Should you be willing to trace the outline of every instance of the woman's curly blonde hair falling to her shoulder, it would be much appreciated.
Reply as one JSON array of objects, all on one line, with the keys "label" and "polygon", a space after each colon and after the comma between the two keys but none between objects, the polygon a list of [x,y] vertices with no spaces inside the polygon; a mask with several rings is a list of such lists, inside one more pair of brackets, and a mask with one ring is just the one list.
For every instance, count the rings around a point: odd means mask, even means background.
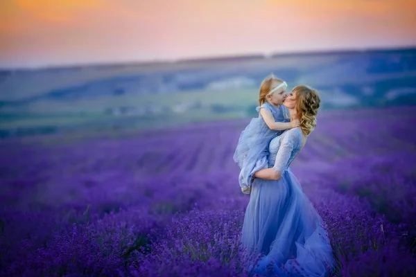
[{"label": "woman's curly blonde hair falling to her shoulder", "polygon": [[307,136],[316,127],[316,116],[320,107],[318,91],[311,87],[300,85],[293,89],[293,94],[297,100],[296,111],[299,115],[300,127]]}]

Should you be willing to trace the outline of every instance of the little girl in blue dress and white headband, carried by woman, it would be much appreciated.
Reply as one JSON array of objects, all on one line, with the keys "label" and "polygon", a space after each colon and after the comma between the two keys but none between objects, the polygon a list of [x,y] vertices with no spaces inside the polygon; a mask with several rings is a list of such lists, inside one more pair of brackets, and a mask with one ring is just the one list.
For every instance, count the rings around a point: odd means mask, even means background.
[{"label": "little girl in blue dress and white headband, carried by woman", "polygon": [[241,168],[239,184],[241,191],[250,194],[253,172],[267,168],[268,145],[284,130],[298,127],[299,120],[289,122],[288,111],[283,105],[287,84],[273,75],[261,82],[258,118],[252,118],[241,132],[234,152],[234,161]]}]

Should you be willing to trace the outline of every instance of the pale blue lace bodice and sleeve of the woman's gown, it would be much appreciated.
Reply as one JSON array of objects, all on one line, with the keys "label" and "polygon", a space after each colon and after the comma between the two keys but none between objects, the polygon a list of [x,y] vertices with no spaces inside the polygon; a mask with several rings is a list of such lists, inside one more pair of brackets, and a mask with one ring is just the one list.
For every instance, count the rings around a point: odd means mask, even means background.
[{"label": "pale blue lace bodice and sleeve of the woman's gown", "polygon": [[296,154],[302,148],[302,133],[300,129],[293,128],[277,136],[269,145],[269,168],[284,171],[289,168]]}]

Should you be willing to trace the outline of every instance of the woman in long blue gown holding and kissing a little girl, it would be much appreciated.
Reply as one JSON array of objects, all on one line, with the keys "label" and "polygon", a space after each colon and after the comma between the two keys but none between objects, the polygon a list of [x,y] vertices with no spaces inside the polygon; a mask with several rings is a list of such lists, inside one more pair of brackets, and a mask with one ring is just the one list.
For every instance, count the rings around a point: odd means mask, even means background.
[{"label": "woman in long blue gown holding and kissing a little girl", "polygon": [[327,232],[288,168],[316,126],[320,98],[314,89],[297,86],[283,105],[291,120],[300,120],[300,127],[273,139],[269,168],[254,173],[243,222],[243,246],[254,255],[263,254],[254,265],[255,274],[327,276],[333,268]]}]

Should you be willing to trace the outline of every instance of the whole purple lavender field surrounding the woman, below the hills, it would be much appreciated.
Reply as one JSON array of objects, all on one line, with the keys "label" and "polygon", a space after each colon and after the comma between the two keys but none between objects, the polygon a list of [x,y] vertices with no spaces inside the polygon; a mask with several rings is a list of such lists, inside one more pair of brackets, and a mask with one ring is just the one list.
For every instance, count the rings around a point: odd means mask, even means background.
[{"label": "whole purple lavender field surrounding the woman, below the hills", "polygon": [[[327,111],[293,163],[324,218],[334,276],[416,276],[416,107]],[[248,276],[248,120],[124,139],[0,143],[1,276]]]}]

